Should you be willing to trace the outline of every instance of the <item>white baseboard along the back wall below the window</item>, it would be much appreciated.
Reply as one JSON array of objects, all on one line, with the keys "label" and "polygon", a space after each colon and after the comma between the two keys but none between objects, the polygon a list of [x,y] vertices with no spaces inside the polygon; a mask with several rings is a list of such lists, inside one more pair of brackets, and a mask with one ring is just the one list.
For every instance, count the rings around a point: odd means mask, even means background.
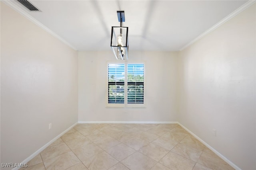
[{"label": "white baseboard along the back wall below the window", "polygon": [[78,121],[78,123],[177,124],[177,121]]}]

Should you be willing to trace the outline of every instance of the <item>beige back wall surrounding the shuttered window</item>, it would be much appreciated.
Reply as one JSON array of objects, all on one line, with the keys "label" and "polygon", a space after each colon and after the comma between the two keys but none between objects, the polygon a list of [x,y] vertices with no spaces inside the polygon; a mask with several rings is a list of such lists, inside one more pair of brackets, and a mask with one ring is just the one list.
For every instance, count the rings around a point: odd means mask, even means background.
[{"label": "beige back wall surrounding the shuttered window", "polygon": [[78,53],[78,121],[177,121],[177,53],[129,52],[146,61],[146,108],[106,108],[107,60],[111,51]]}]

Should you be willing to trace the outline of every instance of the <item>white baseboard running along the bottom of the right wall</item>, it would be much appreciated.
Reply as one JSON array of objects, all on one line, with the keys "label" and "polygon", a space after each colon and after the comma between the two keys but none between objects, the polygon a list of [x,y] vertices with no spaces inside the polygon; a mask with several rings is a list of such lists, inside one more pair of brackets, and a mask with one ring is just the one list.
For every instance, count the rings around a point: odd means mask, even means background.
[{"label": "white baseboard running along the bottom of the right wall", "polygon": [[188,130],[186,127],[184,127],[182,124],[180,124],[178,122],[178,125],[180,125],[181,127],[183,127],[186,131],[188,131],[188,133],[190,133],[192,136],[194,136],[196,139],[198,139],[198,141],[200,141],[201,143],[203,143],[206,147],[208,147],[210,150],[212,150],[212,152],[214,152],[216,155],[218,155],[220,158],[222,158],[225,162],[227,162],[230,166],[232,166],[234,169],[236,170],[241,170],[238,166],[236,166],[233,162],[231,162],[230,160],[228,160],[225,156],[223,156],[222,154],[220,154],[220,152],[218,152],[217,150],[213,149],[210,145],[208,145],[205,141],[203,141],[202,139],[200,139],[198,136],[196,136],[194,133],[192,133],[190,130]]}]

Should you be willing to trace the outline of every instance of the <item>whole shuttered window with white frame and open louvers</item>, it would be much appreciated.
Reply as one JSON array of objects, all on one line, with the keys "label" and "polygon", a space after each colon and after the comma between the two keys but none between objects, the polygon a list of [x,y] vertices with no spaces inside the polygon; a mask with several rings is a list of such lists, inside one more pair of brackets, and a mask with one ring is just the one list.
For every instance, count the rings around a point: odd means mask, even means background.
[{"label": "whole shuttered window with white frame and open louvers", "polygon": [[107,107],[145,107],[145,62],[107,62]]}]

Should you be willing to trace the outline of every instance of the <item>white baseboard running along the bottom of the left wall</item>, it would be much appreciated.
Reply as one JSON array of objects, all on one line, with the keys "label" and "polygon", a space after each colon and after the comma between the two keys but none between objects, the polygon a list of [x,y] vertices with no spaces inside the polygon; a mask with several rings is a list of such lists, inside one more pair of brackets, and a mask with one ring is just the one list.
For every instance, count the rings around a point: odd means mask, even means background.
[{"label": "white baseboard running along the bottom of the left wall", "polygon": [[[62,133],[60,133],[60,135],[56,136],[54,139],[52,139],[50,142],[46,143],[43,147],[41,147],[40,149],[36,150],[36,152],[34,152],[32,155],[28,156],[28,158],[26,158],[25,160],[23,160],[21,162],[21,164],[25,164],[28,163],[28,161],[30,161],[31,159],[33,159],[36,155],[38,155],[40,152],[42,152],[44,149],[46,149],[49,145],[51,145],[52,143],[54,143],[54,141],[56,141],[57,139],[59,139],[62,135],[64,135],[66,132],[68,132],[70,129],[72,129],[78,122],[76,122],[74,125],[70,126],[68,129],[66,129],[65,131],[63,131]],[[15,167],[12,170],[18,170],[19,167]]]}]

